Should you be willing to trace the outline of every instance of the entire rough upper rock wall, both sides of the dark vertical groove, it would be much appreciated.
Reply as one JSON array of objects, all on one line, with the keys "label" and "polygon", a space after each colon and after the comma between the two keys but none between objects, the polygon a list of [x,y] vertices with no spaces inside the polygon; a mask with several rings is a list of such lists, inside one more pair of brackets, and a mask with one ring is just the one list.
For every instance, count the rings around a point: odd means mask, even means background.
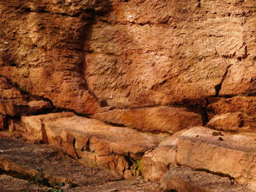
[{"label": "entire rough upper rock wall, both sides of the dark vertical groove", "polygon": [[255,93],[255,1],[0,3],[0,75],[56,107]]}]

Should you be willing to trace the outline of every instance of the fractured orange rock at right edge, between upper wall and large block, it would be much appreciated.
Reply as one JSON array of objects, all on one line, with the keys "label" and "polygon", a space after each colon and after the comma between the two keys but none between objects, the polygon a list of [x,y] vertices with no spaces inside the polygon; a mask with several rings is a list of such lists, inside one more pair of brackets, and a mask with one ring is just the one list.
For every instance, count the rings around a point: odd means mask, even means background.
[{"label": "fractured orange rock at right edge, between upper wall and large block", "polygon": [[208,104],[208,127],[224,131],[255,131],[255,96],[234,96]]}]

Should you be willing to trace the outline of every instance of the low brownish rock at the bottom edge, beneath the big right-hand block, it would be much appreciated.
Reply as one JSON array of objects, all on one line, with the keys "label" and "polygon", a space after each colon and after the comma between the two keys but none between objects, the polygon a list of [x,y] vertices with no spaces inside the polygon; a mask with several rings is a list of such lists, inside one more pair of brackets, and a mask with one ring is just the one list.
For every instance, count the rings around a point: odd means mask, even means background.
[{"label": "low brownish rock at the bottom edge, beneath the big right-hand block", "polygon": [[175,192],[252,192],[234,182],[233,178],[220,177],[187,167],[176,167],[162,177],[161,188]]}]

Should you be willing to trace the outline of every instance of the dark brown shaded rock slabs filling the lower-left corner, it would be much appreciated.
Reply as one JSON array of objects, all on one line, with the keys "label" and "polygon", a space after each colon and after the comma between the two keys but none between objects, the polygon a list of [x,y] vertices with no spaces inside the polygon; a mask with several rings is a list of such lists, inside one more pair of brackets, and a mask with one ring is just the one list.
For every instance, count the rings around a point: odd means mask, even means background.
[{"label": "dark brown shaded rock slabs filling the lower-left corner", "polygon": [[[23,180],[18,180],[1,174],[2,192],[46,192],[56,183],[65,183],[64,191],[159,191],[156,183],[123,180],[120,174],[108,169],[84,166],[54,147],[31,145],[7,138],[0,138],[0,143],[0,172],[23,177]],[[35,180],[41,182],[42,186],[35,185]]]}]

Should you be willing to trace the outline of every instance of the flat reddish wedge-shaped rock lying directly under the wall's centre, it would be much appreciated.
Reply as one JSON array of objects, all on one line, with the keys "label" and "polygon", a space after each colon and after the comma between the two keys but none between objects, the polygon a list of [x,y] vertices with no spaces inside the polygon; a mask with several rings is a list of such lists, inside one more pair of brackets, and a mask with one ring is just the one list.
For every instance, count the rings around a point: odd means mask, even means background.
[{"label": "flat reddish wedge-shaped rock lying directly under the wall's centre", "polygon": [[136,128],[140,131],[162,131],[170,134],[184,128],[202,125],[202,116],[177,107],[144,107],[109,110],[92,116],[108,123]]}]

